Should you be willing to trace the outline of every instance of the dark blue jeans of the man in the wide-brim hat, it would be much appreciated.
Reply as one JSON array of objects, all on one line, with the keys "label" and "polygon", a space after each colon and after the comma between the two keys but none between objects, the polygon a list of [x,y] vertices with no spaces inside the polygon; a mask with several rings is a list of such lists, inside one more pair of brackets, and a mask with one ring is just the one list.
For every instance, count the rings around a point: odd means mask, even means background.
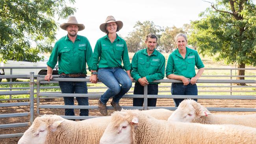
[{"label": "dark blue jeans of the man in the wide-brim hat", "polygon": [[[59,75],[59,78],[74,78],[69,76]],[[76,77],[85,78],[85,77]],[[61,92],[64,94],[87,94],[86,82],[76,82],[76,81],[59,81],[59,87]],[[65,105],[74,105],[74,97],[63,97]],[[76,97],[78,105],[89,105],[88,98]],[[74,116],[74,109],[65,109],[65,116]],[[80,109],[80,116],[88,116],[88,109]]]}]

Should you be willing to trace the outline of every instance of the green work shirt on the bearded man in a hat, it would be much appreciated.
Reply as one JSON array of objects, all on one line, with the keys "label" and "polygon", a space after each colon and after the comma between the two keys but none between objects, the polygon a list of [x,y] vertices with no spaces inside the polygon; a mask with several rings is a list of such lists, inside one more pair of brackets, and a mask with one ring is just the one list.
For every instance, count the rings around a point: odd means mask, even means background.
[{"label": "green work shirt on the bearded man in a hat", "polygon": [[92,55],[91,44],[86,37],[77,35],[73,43],[66,35],[55,43],[47,65],[54,68],[59,61],[59,74],[87,74],[86,63],[90,70]]}]

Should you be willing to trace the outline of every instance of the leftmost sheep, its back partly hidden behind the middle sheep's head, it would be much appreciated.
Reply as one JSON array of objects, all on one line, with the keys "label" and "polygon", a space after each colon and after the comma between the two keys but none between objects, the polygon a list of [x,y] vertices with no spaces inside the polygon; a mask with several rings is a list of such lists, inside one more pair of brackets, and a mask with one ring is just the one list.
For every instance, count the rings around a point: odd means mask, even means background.
[{"label": "leftmost sheep, its back partly hidden behind the middle sheep's head", "polygon": [[[151,109],[142,113],[167,120],[172,111]],[[110,120],[110,116],[104,116],[74,122],[57,115],[44,115],[35,118],[18,144],[98,144]]]}]

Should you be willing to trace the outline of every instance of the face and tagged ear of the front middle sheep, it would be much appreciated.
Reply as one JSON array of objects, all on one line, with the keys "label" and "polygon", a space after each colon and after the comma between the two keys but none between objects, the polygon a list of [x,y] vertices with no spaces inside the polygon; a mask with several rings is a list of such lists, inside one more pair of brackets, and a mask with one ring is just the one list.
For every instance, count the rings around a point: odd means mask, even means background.
[{"label": "face and tagged ear of the front middle sheep", "polygon": [[132,120],[131,122],[129,118],[126,118],[126,116],[117,114],[117,112],[112,114],[111,122],[100,138],[100,144],[132,144],[132,125],[133,122],[138,120],[134,118],[135,121]]}]

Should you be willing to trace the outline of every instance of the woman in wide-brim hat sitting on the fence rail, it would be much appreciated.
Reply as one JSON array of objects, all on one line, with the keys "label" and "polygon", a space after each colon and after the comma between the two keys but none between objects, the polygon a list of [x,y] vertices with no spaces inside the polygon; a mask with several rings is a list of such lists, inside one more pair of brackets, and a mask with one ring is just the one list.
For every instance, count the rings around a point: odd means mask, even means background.
[{"label": "woman in wide-brim hat sitting on the fence rail", "polygon": [[90,81],[97,83],[99,79],[109,88],[98,100],[100,113],[105,116],[108,114],[106,103],[109,98],[113,97],[110,104],[115,111],[121,111],[119,100],[132,87],[133,78],[130,74],[131,64],[126,42],[117,35],[122,26],[123,23],[115,20],[113,16],[106,18],[106,22],[100,25],[100,30],[107,35],[96,42],[91,61]]}]

